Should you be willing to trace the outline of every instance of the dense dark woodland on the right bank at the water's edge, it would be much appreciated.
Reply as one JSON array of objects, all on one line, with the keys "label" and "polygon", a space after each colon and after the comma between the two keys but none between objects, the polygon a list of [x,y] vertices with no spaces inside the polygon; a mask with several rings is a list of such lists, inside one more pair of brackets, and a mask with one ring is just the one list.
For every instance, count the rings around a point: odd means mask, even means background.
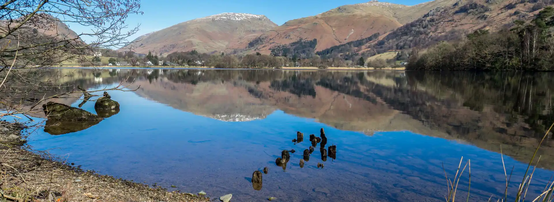
[{"label": "dense dark woodland on the right bank at the water's edge", "polygon": [[554,8],[546,7],[531,22],[516,20],[499,32],[476,30],[458,42],[414,49],[410,70],[554,70]]}]

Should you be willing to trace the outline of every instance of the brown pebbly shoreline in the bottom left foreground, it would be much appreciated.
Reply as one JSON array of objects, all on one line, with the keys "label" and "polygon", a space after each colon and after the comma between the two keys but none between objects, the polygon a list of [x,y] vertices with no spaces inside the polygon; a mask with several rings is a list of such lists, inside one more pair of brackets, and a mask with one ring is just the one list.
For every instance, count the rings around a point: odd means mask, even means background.
[{"label": "brown pebbly shoreline in the bottom left foreground", "polygon": [[[23,146],[23,127],[0,123],[0,199],[9,201],[209,201],[209,198],[85,172]],[[3,200],[3,199],[2,199]]]}]

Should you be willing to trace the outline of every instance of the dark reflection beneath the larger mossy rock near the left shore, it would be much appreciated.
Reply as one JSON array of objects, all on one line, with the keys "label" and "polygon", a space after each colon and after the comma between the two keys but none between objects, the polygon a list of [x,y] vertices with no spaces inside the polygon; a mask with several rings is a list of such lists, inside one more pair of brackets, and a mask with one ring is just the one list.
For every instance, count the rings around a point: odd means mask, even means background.
[{"label": "dark reflection beneath the larger mossy rock near the left shore", "polygon": [[73,133],[77,131],[85,130],[94,125],[97,125],[100,121],[53,121],[47,120],[44,126],[44,132],[53,134],[55,136],[59,134]]}]

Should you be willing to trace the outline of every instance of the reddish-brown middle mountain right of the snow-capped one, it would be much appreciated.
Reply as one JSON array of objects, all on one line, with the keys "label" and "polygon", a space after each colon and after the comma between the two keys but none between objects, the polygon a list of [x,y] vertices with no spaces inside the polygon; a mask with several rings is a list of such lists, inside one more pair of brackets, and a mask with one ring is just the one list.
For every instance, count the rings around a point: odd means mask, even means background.
[{"label": "reddish-brown middle mountain right of the snow-capped one", "polygon": [[294,19],[266,32],[244,47],[247,51],[269,54],[277,45],[299,40],[317,40],[315,51],[331,46],[388,33],[423,16],[430,9],[452,4],[455,0],[437,0],[404,6],[370,1],[341,6],[306,18]]}]

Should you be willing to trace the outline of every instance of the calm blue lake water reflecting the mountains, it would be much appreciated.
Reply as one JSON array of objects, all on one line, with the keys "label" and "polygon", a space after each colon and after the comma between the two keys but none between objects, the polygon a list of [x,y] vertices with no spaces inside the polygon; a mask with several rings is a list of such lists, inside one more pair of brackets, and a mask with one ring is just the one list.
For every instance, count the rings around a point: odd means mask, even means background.
[{"label": "calm blue lake water reflecting the mountains", "polygon": [[[462,167],[471,159],[469,201],[496,201],[505,189],[500,151],[507,172],[514,169],[514,193],[554,121],[548,73],[57,71],[89,90],[121,81],[138,89],[109,92],[120,112],[89,128],[32,134],[35,149],[57,148],[50,152],[85,170],[211,198],[230,193],[232,201],[444,201],[443,167],[453,178],[461,157]],[[94,102],[81,108],[95,113]],[[318,144],[300,168],[309,134],[320,128],[336,158],[322,158]],[[303,142],[292,141],[296,131]],[[551,137],[544,144],[528,197],[553,174]],[[276,165],[290,149],[288,164]],[[250,178],[264,167],[255,190]],[[456,199],[465,201],[468,180],[466,170]]]}]

